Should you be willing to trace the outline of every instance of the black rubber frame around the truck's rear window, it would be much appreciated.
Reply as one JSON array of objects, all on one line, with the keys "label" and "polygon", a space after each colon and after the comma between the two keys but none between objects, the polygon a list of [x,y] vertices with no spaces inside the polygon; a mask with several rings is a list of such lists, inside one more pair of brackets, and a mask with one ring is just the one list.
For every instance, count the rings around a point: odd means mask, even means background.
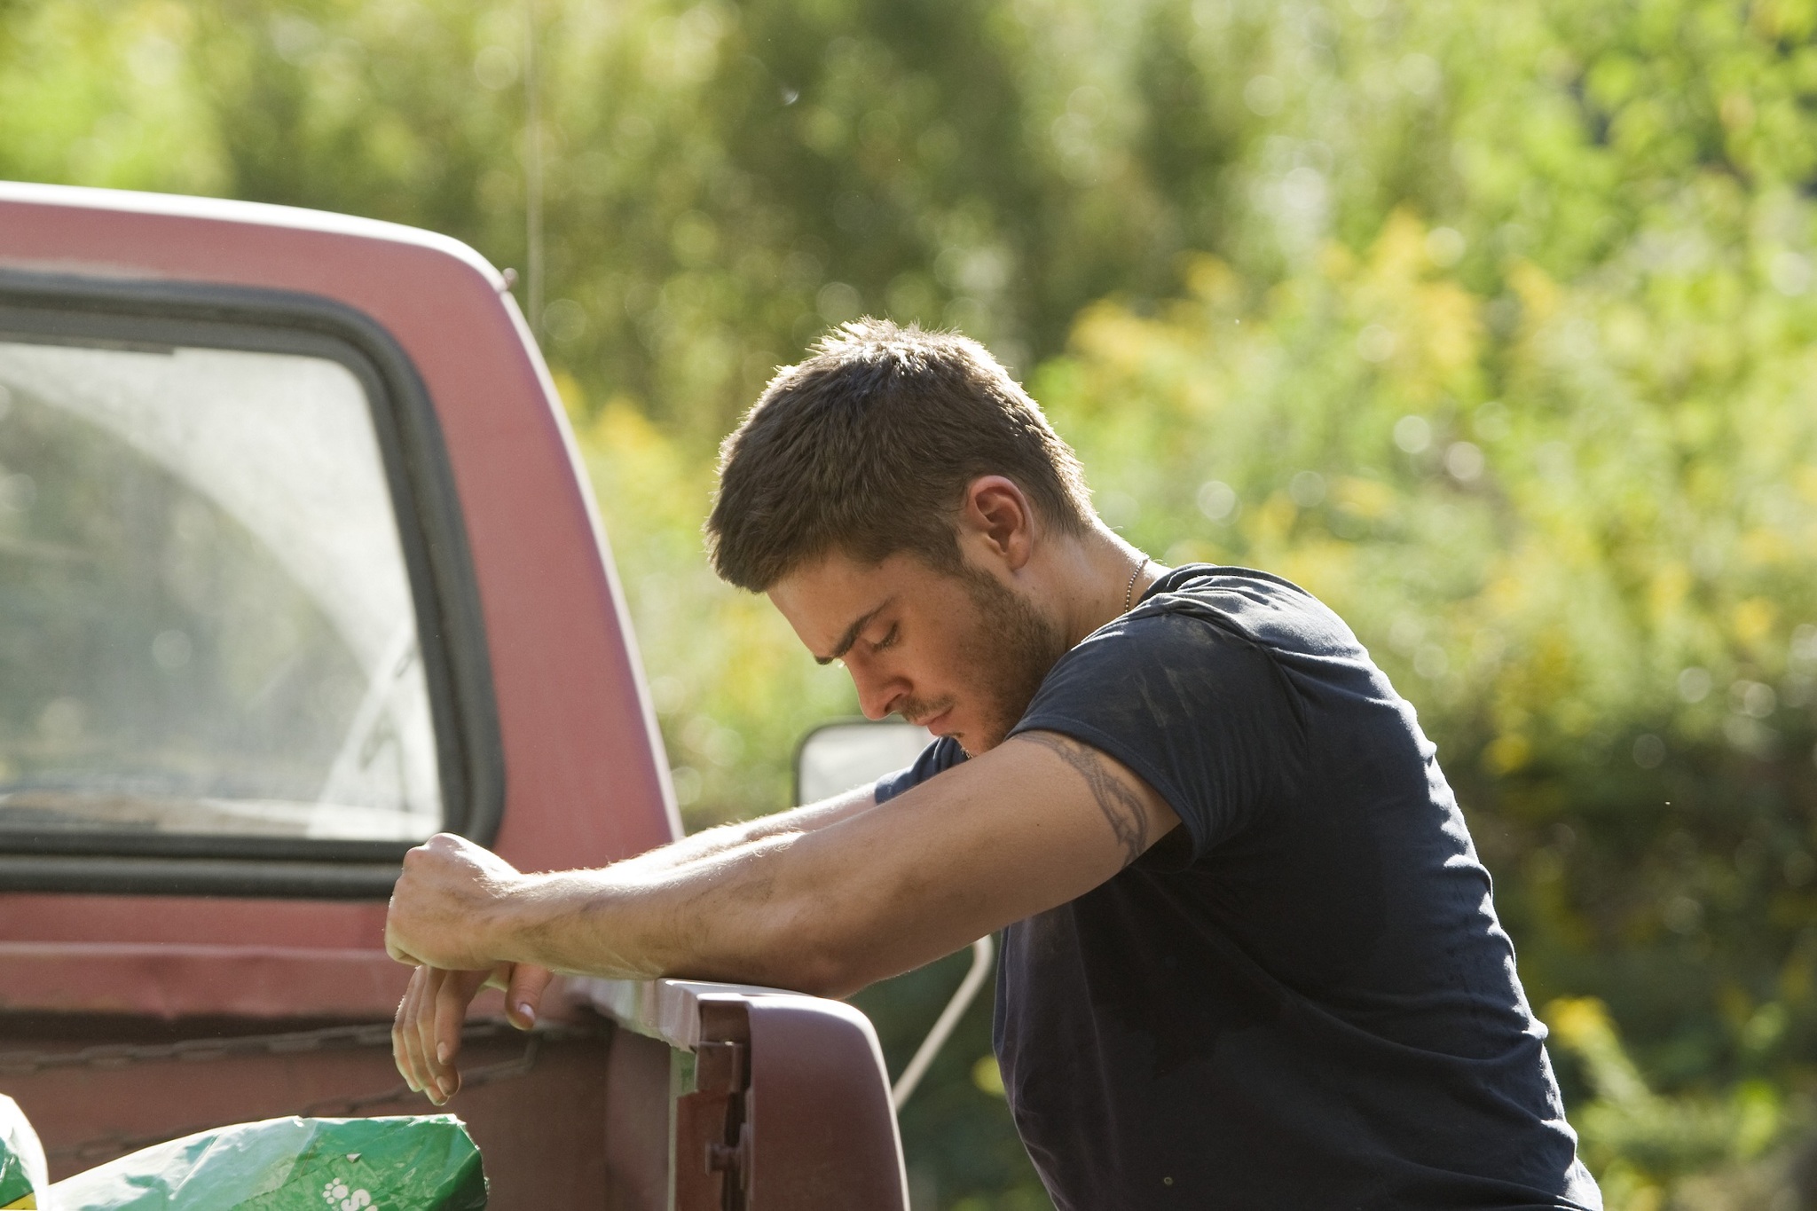
[{"label": "black rubber frame around the truck's rear window", "polygon": [[[300,354],[331,359],[360,381],[416,610],[442,828],[491,844],[503,815],[505,761],[467,527],[434,401],[383,325],[314,294],[0,269],[0,340]],[[385,899],[412,844],[0,830],[0,890]]]}]

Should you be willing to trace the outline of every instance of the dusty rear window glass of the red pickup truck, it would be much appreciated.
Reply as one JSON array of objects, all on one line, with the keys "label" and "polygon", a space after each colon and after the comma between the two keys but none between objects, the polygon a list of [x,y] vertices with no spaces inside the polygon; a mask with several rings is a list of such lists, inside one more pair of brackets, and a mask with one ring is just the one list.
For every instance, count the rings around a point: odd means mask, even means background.
[{"label": "dusty rear window glass of the red pickup truck", "polygon": [[360,379],[296,354],[0,336],[0,842],[440,826]]}]

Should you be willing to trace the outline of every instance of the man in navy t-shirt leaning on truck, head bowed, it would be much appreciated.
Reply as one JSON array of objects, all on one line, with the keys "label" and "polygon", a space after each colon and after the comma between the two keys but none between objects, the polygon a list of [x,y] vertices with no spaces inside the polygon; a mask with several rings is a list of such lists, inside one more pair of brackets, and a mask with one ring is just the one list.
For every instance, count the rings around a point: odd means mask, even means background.
[{"label": "man in navy t-shirt leaning on truck, head bowed", "polygon": [[998,1060],[1063,1211],[1601,1206],[1434,746],[1330,610],[1154,565],[981,347],[870,320],[769,385],[707,528],[939,739],[607,870],[414,850],[412,1086],[458,1088],[487,979],[520,1024],[549,971],[845,995],[1003,930]]}]

